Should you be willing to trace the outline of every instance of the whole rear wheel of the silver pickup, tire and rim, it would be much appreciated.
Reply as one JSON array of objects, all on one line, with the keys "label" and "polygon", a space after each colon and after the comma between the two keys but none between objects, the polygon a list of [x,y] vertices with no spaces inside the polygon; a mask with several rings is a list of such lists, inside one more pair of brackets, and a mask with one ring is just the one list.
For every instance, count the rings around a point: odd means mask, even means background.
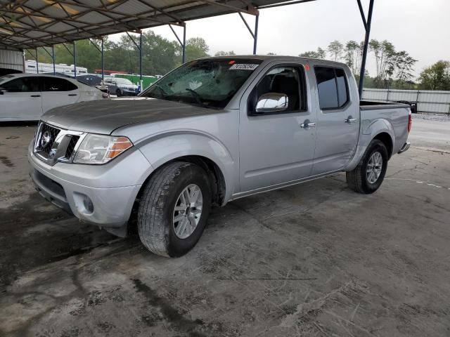
[{"label": "whole rear wheel of the silver pickup, tire and rim", "polygon": [[378,190],[387,170],[387,149],[380,140],[372,140],[361,161],[346,173],[347,185],[355,192],[370,194]]}]

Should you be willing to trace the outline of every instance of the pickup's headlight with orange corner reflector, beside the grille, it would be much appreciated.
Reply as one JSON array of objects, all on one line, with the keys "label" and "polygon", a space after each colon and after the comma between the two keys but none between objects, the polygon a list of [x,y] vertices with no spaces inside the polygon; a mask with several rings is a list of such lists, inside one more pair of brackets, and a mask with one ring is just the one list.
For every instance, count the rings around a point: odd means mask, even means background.
[{"label": "pickup's headlight with orange corner reflector, beside the grille", "polygon": [[103,136],[88,133],[79,145],[74,163],[105,164],[133,146],[127,137]]}]

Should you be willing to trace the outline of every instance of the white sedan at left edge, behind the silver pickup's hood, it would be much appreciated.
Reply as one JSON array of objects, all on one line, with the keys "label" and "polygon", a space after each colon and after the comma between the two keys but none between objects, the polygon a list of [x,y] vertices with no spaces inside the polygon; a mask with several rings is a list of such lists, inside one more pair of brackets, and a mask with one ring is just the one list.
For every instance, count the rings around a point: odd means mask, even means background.
[{"label": "white sedan at left edge, behind the silver pickup's hood", "polygon": [[108,98],[76,79],[43,74],[0,77],[0,121],[34,121],[62,105]]}]

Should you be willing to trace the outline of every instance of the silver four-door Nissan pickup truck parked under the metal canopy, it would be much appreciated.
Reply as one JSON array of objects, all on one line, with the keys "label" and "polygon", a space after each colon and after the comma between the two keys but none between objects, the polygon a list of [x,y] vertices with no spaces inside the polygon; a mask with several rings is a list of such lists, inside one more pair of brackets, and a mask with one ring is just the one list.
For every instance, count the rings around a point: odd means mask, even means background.
[{"label": "silver four-door Nissan pickup truck parked under the metal canopy", "polygon": [[408,105],[360,102],[342,63],[203,58],[138,97],[47,112],[28,159],[56,206],[118,236],[137,223],[150,251],[181,256],[233,199],[340,171],[374,192],[410,128]]}]

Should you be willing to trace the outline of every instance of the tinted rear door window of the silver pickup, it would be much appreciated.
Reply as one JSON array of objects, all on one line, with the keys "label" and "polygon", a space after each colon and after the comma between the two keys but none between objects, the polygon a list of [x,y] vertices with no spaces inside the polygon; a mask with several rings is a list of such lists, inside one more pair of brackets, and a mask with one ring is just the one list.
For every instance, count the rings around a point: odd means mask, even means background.
[{"label": "tinted rear door window of the silver pickup", "polygon": [[340,109],[348,101],[347,78],[344,70],[314,67],[321,110]]}]

